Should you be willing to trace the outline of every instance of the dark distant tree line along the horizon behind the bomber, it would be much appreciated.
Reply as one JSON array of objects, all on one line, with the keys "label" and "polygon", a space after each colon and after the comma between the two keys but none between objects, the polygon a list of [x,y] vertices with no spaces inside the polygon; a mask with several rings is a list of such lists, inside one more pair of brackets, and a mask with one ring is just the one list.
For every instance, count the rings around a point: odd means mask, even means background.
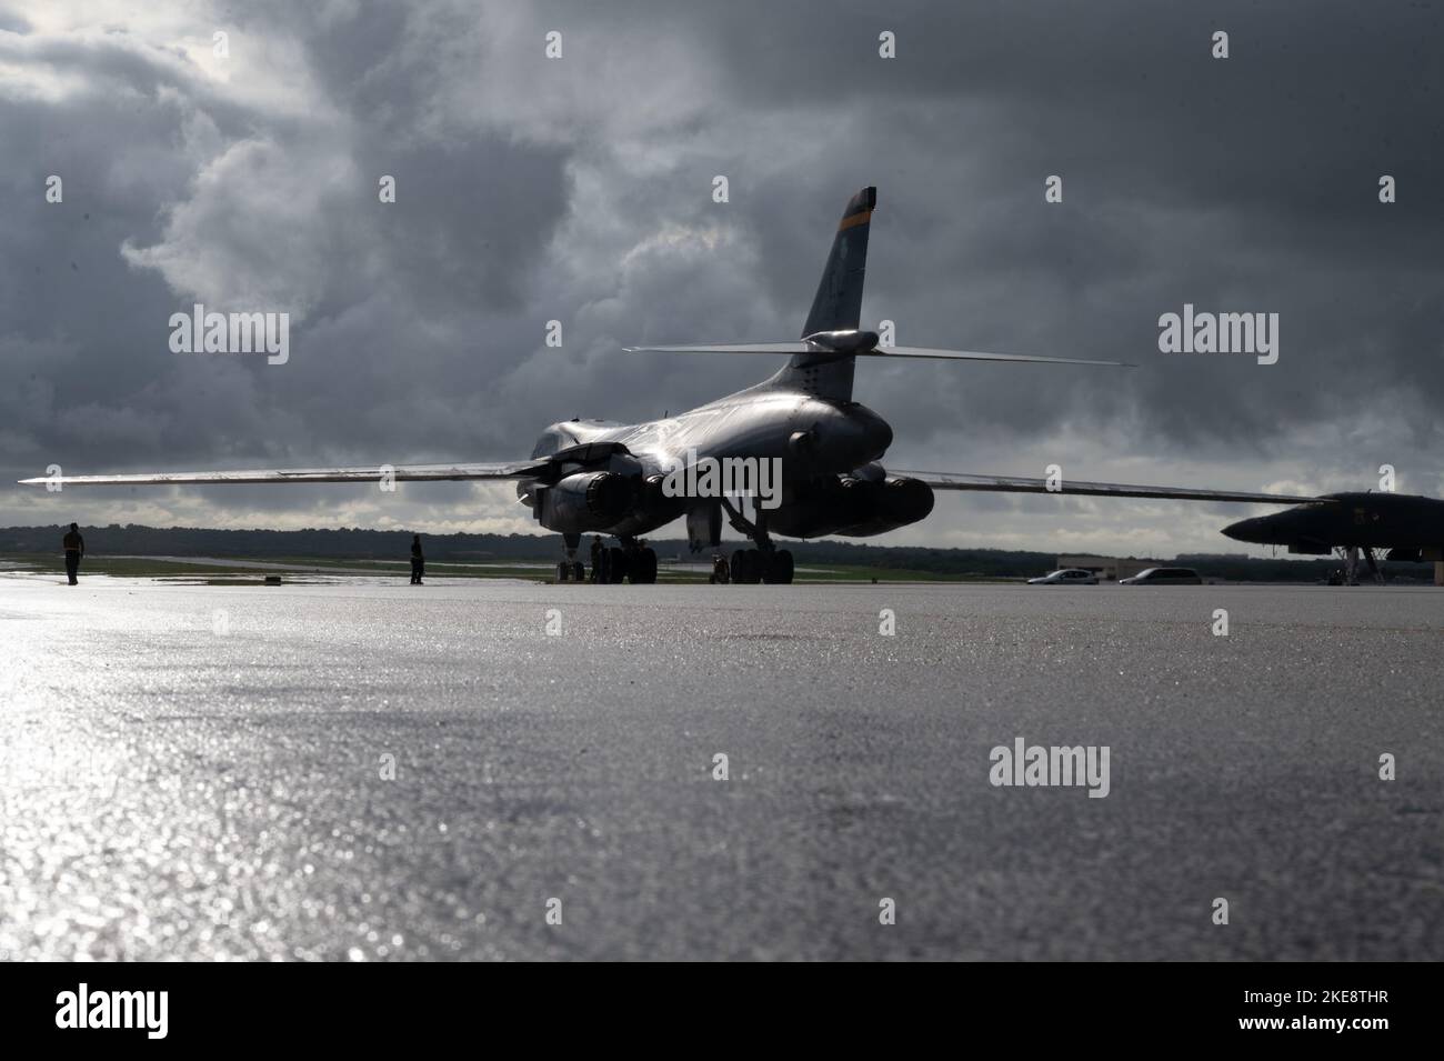
[{"label": "dark distant tree line along the horizon behind the bomber", "polygon": [[[381,531],[349,527],[341,530],[208,530],[205,527],[139,527],[134,524],[82,527],[85,547],[92,556],[214,556],[231,560],[267,560],[315,557],[336,560],[406,560],[412,531]],[[58,553],[59,527],[0,528],[0,553]],[[562,554],[559,534],[423,534],[426,557],[432,562],[505,563],[513,560],[552,562]],[[666,560],[690,556],[679,538],[648,540]],[[723,543],[726,549],[742,543]],[[583,541],[583,553],[586,543]],[[787,549],[799,563],[852,564],[887,570],[931,572],[973,577],[1031,577],[1053,570],[1057,554],[1005,549],[927,549],[921,546],[874,546],[852,541],[788,541]],[[703,553],[705,556],[705,553]],[[1317,582],[1326,579],[1339,562],[1330,557],[1310,560],[1249,559],[1233,556],[1180,557],[1180,563],[1204,577],[1233,582]],[[1392,579],[1432,582],[1428,563],[1389,563]]]}]

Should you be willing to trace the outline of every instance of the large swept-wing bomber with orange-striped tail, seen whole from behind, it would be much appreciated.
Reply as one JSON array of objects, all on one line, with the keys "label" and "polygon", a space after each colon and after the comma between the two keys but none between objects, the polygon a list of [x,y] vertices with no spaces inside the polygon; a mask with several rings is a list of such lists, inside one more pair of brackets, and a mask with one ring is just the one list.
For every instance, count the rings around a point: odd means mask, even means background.
[{"label": "large swept-wing bomber with orange-striped tail, seen whole from behind", "polygon": [[[628,346],[628,352],[757,354],[786,357],[787,364],[762,383],[663,420],[622,424],[612,420],[565,420],[542,433],[526,460],[495,463],[397,465],[374,468],[302,468],[149,475],[68,475],[26,484],[142,485],[211,482],[377,482],[501,479],[517,484],[517,497],[536,521],[562,534],[562,580],[585,577],[576,553],[583,534],[614,537],[605,570],[609,582],[657,580],[656,553],[643,536],[686,520],[693,551],[713,553],[713,582],[787,583],[793,554],[773,537],[868,537],[905,527],[933,511],[933,492],[1011,491],[1025,494],[1174,498],[1297,504],[1320,501],[1278,494],[1243,494],[1113,482],[1050,482],[999,475],[890,471],[881,460],[892,429],[852,397],[858,358],[933,358],[944,361],[1017,361],[1066,365],[1113,365],[1115,361],[1018,357],[976,351],[879,345],[861,331],[862,281],[868,230],[877,188],[848,202],[801,338],[787,342],[728,342],[683,346]],[[679,495],[667,488],[680,466],[728,460],[778,462],[780,482],[770,504],[741,497]],[[697,479],[700,481],[700,479]],[[751,543],[731,562],[722,554],[722,520]]]}]

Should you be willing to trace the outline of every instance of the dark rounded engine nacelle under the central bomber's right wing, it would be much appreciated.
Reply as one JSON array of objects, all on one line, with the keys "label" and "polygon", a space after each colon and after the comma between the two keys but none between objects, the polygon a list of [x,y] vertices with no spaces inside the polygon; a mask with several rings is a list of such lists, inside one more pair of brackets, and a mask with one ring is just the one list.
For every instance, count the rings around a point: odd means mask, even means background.
[{"label": "dark rounded engine nacelle under the central bomber's right wing", "polygon": [[[881,468],[877,471],[881,472]],[[767,525],[791,538],[825,534],[865,538],[907,527],[931,511],[933,488],[921,479],[846,475],[797,491],[768,515]]]}]

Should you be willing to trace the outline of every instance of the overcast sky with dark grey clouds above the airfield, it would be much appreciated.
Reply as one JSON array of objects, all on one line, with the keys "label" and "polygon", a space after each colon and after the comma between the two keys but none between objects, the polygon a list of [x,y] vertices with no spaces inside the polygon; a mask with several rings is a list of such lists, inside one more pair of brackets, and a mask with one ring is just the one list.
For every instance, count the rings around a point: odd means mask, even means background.
[{"label": "overcast sky with dark grey clouds above the airfield", "polygon": [[[864,362],[887,463],[1444,494],[1441,7],[0,0],[0,478],[508,459],[700,404],[777,365],[619,348],[794,338],[875,183],[865,326],[1139,362]],[[289,362],[170,352],[195,302],[290,313]],[[1160,352],[1184,303],[1278,313],[1278,362]],[[1246,514],[941,495],[878,541],[1170,557]],[[0,486],[0,525],[69,520],[536,530],[497,485]]]}]

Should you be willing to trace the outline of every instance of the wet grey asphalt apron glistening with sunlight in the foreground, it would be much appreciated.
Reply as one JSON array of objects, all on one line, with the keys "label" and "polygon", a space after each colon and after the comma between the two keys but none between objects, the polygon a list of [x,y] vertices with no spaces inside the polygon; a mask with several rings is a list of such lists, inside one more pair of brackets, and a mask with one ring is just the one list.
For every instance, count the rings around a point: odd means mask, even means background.
[{"label": "wet grey asphalt apron glistening with sunlight in the foreground", "polygon": [[1432,589],[0,576],[0,954],[1440,959],[1441,648]]}]

